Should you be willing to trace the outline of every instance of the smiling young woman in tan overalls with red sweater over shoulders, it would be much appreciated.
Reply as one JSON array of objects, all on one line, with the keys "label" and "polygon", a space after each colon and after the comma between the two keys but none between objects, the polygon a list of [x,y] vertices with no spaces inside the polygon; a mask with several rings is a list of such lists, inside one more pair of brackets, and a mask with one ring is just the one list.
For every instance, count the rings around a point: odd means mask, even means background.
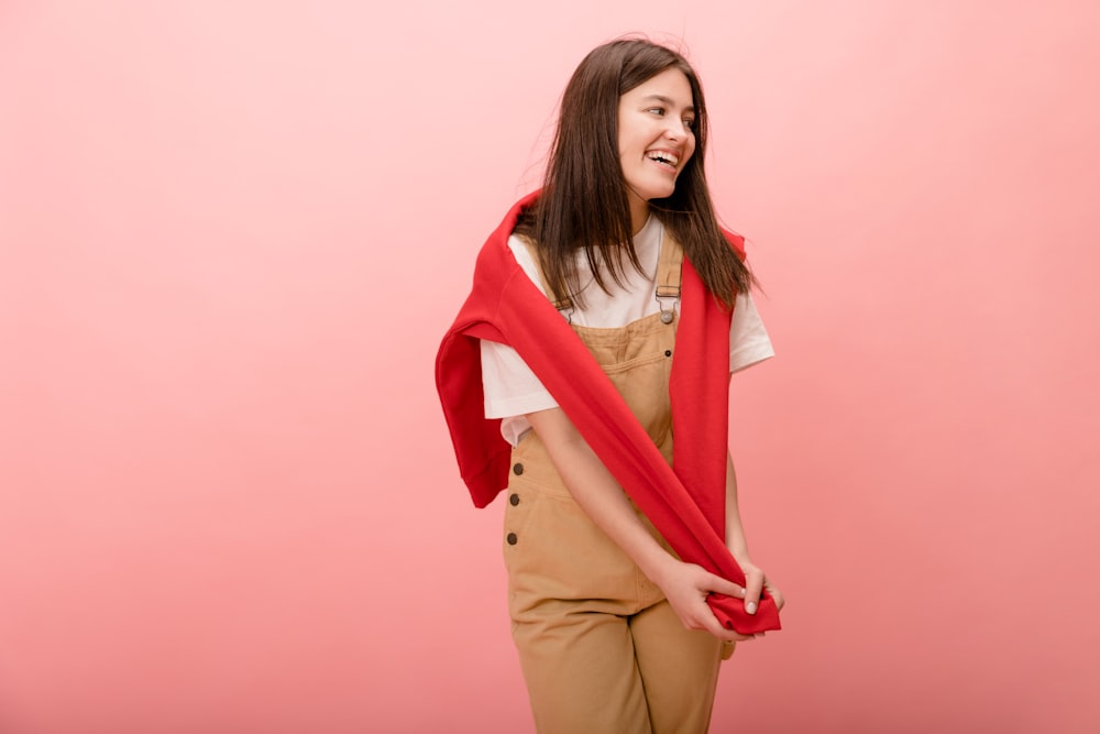
[{"label": "smiling young woman in tan overalls with red sweater over shoulders", "polygon": [[474,503],[507,486],[508,604],[540,732],[705,732],[721,660],[779,628],[726,443],[729,375],[772,350],[743,240],[714,213],[706,132],[680,54],[591,52],[541,190],[483,247],[440,348]]}]

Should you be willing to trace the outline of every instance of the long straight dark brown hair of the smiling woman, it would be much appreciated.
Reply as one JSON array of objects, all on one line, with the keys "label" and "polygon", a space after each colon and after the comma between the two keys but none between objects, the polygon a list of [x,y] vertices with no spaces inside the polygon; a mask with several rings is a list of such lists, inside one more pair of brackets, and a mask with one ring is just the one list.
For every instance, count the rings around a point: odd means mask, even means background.
[{"label": "long straight dark brown hair of the smiling woman", "polygon": [[680,172],[672,195],[652,199],[650,210],[683,247],[707,291],[727,307],[733,306],[736,292],[748,291],[755,283],[723,235],[711,202],[703,171],[706,105],[695,70],[671,48],[620,39],[594,48],[573,72],[562,95],[542,193],[516,227],[517,234],[537,243],[551,288],[581,305],[578,250],[584,252],[596,284],[605,292],[606,273],[623,284],[624,254],[641,271],[618,153],[618,105],[624,94],[668,68],[683,72],[691,85],[695,154]]}]

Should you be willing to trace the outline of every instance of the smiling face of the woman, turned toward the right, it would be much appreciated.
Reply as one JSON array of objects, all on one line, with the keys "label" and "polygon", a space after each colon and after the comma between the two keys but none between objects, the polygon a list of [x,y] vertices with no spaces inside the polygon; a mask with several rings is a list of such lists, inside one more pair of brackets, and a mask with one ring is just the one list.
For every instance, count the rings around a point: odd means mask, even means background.
[{"label": "smiling face of the woman, turned toward the right", "polygon": [[695,152],[694,124],[691,84],[680,69],[666,69],[619,97],[619,161],[635,232],[649,217],[649,200],[675,190]]}]

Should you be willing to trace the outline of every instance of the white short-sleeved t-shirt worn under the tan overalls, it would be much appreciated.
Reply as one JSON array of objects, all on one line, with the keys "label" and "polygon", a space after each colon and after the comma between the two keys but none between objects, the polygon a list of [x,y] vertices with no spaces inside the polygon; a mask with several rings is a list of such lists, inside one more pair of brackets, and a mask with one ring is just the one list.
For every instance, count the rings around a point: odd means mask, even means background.
[{"label": "white short-sleeved t-shirt worn under the tan overalls", "polygon": [[[584,294],[584,308],[573,308],[569,315],[572,324],[614,329],[658,313],[661,305],[657,300],[654,288],[657,262],[663,235],[663,224],[657,217],[651,216],[634,238],[642,273],[638,273],[627,262],[623,273],[623,287],[617,286],[609,275],[605,276],[604,280],[612,292],[609,295],[596,285],[587,261],[583,253],[579,253],[578,275]],[[527,276],[544,294],[538,266],[522,240],[514,234],[508,239],[508,247],[512,248]],[[666,308],[671,303],[671,299],[666,299]],[[679,307],[680,303],[676,300],[675,308]],[[737,372],[762,362],[774,353],[752,297],[748,293],[737,294],[729,325],[729,372]],[[481,357],[485,417],[504,418],[501,432],[509,443],[516,446],[530,428],[525,415],[557,407],[558,402],[512,347],[483,339]]]}]

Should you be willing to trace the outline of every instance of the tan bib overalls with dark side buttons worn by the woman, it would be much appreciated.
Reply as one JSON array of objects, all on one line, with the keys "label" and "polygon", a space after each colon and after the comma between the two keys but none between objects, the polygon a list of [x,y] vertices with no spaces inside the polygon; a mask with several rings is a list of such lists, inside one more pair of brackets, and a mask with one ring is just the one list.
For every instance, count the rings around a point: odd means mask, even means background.
[{"label": "tan bib overalls with dark side buttons worn by the woman", "polygon": [[[671,287],[679,297],[682,259],[666,235],[659,295]],[[573,329],[671,463],[676,314],[661,300],[662,313],[622,328]],[[576,504],[534,430],[512,456],[504,516],[508,611],[538,731],[706,732],[722,643],[684,628],[661,590]],[[732,647],[725,649],[728,657]]]}]

